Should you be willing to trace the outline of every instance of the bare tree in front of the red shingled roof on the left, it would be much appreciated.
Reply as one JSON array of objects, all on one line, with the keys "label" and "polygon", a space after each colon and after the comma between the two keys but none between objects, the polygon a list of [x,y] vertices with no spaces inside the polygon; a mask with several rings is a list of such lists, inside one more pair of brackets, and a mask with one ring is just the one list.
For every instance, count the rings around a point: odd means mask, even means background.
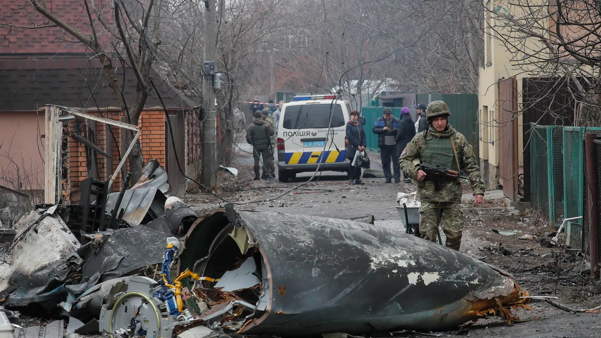
[{"label": "bare tree in front of the red shingled roof on the left", "polygon": [[[149,72],[156,60],[156,48],[160,40],[157,2],[160,0],[73,0],[81,8],[82,16],[61,13],[60,1],[23,0],[14,11],[34,8],[38,15],[31,16],[28,25],[17,25],[4,19],[0,23],[6,34],[22,29],[52,29],[58,27],[75,41],[85,46],[92,58],[102,64],[103,73],[115,98],[124,112],[124,121],[137,124],[150,90]],[[66,2],[66,1],[65,1]],[[84,18],[84,19],[82,19]],[[57,42],[59,43],[59,42]],[[136,78],[133,99],[127,102],[123,83],[115,72],[118,62],[125,64]],[[126,70],[124,69],[124,72]],[[132,133],[124,135],[124,143],[133,140]],[[142,172],[140,147],[134,147],[129,155],[129,168],[135,182]]]}]

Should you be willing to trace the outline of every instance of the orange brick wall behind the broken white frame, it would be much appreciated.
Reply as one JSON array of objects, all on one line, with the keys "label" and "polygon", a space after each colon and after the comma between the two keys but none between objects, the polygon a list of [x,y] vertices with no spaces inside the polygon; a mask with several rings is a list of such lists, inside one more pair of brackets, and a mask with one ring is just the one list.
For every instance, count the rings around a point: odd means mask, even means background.
[{"label": "orange brick wall behind the broken white frame", "polygon": [[[97,113],[91,113],[98,115]],[[102,117],[111,118],[111,120],[121,120],[123,113],[121,112],[103,112]],[[85,118],[76,118],[69,123],[69,180],[70,191],[73,203],[79,201],[79,191],[81,181],[88,177],[88,165],[85,153],[85,146],[73,138],[73,132],[84,136],[86,127]],[[88,126],[90,126],[88,120]],[[119,155],[127,150],[128,145],[121,144],[121,128],[111,126],[112,134],[107,132],[106,124],[94,121],[94,136],[96,137],[96,146],[108,152],[111,157],[111,162],[105,156],[97,154],[97,166],[100,180],[108,180],[109,176],[119,165]],[[159,163],[165,167],[165,113],[163,111],[143,111],[138,120],[138,126],[142,128],[140,135],[140,143],[142,147],[142,158],[144,163],[156,158]],[[117,142],[115,142],[117,138]],[[109,142],[110,144],[107,144]],[[109,147],[107,147],[109,145]],[[118,151],[119,150],[119,151]],[[127,165],[127,162],[126,162]],[[111,170],[107,173],[107,168]],[[117,179],[112,186],[112,191],[119,191],[121,188],[121,174],[117,175]]]}]

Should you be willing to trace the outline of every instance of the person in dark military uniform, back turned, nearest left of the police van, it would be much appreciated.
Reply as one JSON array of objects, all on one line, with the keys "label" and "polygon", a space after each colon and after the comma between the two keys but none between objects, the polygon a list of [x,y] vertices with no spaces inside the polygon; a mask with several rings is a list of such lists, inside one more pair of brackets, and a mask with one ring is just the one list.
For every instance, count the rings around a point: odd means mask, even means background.
[{"label": "person in dark military uniform, back turned, nearest left of the police van", "polygon": [[[246,128],[246,142],[252,145],[252,158],[255,160],[254,180],[274,177],[273,150],[270,138],[275,134],[273,127],[265,123],[261,117],[261,111],[255,112],[255,120]],[[259,176],[259,158],[263,157],[263,176]]]}]

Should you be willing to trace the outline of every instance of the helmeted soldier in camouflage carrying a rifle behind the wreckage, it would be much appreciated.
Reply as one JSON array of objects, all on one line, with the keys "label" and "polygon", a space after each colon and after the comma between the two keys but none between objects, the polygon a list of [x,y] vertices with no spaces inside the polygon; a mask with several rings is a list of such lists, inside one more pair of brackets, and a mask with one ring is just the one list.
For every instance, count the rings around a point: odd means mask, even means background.
[{"label": "helmeted soldier in camouflage carrying a rifle behind the wreckage", "polygon": [[428,128],[413,137],[401,153],[399,164],[403,173],[417,180],[419,232],[421,237],[436,242],[438,224],[447,235],[447,247],[459,251],[462,237],[463,213],[460,209],[462,187],[459,179],[448,179],[436,191],[434,182],[416,165],[426,163],[451,170],[463,171],[469,177],[474,191],[475,204],[484,199],[484,182],[474,150],[465,136],[457,132],[447,118],[451,112],[444,101],[428,105]]}]

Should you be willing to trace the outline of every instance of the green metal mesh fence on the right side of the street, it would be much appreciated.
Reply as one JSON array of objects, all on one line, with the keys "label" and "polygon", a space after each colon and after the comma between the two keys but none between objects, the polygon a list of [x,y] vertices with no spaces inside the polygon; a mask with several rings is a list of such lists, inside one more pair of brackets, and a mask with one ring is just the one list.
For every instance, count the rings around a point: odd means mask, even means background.
[{"label": "green metal mesh fence on the right side of the street", "polygon": [[[601,135],[601,128],[539,126],[531,123],[530,204],[559,226],[564,218],[582,215],[584,134]],[[568,244],[582,245],[582,220],[570,222]]]}]

